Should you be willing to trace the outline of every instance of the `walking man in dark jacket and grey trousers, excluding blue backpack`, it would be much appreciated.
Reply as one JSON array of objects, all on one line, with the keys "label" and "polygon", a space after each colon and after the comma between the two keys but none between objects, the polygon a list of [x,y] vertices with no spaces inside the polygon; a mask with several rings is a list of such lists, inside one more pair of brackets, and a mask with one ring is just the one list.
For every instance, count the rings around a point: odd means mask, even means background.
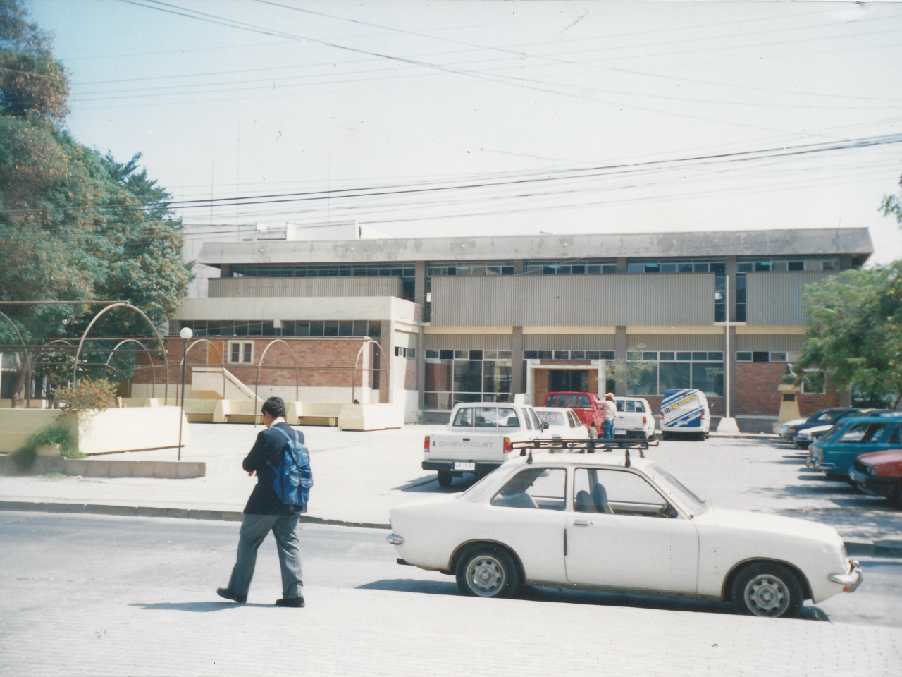
[{"label": "walking man in dark jacket and grey trousers, excluding blue backpack", "polygon": [[260,431],[253,449],[242,462],[248,475],[257,474],[257,486],[253,487],[251,497],[244,506],[238,538],[238,557],[232,578],[228,588],[217,589],[216,594],[241,604],[247,601],[257,550],[266,534],[272,531],[279,550],[282,579],[282,597],[276,600],[276,604],[280,607],[303,607],[304,596],[301,591],[304,584],[300,575],[298,514],[307,512],[307,505],[282,503],[272,487],[272,480],[276,477],[282,453],[289,446],[282,431],[301,444],[304,442],[304,434],[295,431],[285,422],[285,403],[281,397],[271,397],[264,402],[262,413],[266,430]]}]

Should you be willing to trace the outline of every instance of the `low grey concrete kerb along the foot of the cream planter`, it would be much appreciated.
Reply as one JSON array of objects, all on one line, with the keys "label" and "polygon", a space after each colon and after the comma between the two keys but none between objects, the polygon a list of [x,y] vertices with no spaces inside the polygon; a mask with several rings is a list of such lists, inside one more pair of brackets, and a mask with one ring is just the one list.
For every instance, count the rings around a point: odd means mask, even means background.
[{"label": "low grey concrete kerb along the foot of the cream planter", "polygon": [[38,456],[28,470],[15,465],[12,456],[0,456],[0,475],[46,475],[59,472],[83,478],[190,479],[207,475],[207,464],[191,460],[60,459]]}]

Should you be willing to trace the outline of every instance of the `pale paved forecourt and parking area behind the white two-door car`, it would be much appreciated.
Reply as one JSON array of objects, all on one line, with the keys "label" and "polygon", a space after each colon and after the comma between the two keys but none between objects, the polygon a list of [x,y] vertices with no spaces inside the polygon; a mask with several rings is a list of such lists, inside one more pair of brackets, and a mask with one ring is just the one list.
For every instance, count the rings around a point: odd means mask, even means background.
[{"label": "pale paved forecourt and parking area behind the white two-door car", "polygon": [[[208,474],[194,479],[0,478],[0,507],[122,515],[240,518],[256,478],[241,459],[261,427],[191,424],[182,459],[204,460]],[[444,426],[407,425],[401,430],[351,432],[304,427],[315,485],[308,516],[352,524],[388,524],[393,505],[461,491],[473,476],[438,487],[434,472],[420,468],[423,436]],[[698,495],[716,505],[803,517],[833,525],[855,554],[902,554],[902,514],[879,498],[804,467],[801,457],[769,436],[662,441],[646,451]],[[175,459],[176,450],[133,452],[106,458]],[[86,507],[87,506],[87,507]],[[138,508],[143,508],[143,512]],[[40,508],[39,508],[40,509]]]}]

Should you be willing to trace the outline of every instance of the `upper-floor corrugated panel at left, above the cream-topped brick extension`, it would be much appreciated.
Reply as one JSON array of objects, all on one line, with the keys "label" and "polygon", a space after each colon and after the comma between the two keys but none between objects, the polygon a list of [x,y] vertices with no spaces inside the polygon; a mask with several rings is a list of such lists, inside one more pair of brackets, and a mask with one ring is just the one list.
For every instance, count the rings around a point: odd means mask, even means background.
[{"label": "upper-floor corrugated panel at left, above the cream-topped brick extension", "polygon": [[258,296],[398,296],[400,277],[215,277],[207,296],[248,298]]}]

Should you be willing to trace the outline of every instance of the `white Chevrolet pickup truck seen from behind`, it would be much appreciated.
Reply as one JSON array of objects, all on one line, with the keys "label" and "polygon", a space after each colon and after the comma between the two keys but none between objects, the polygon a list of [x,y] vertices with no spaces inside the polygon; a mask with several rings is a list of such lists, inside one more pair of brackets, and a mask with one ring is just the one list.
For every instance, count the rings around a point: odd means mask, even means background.
[{"label": "white Chevrolet pickup truck seen from behind", "polygon": [[511,444],[546,438],[547,423],[527,404],[460,403],[451,412],[448,431],[423,441],[423,469],[438,471],[449,487],[465,472],[486,475],[511,458]]}]

